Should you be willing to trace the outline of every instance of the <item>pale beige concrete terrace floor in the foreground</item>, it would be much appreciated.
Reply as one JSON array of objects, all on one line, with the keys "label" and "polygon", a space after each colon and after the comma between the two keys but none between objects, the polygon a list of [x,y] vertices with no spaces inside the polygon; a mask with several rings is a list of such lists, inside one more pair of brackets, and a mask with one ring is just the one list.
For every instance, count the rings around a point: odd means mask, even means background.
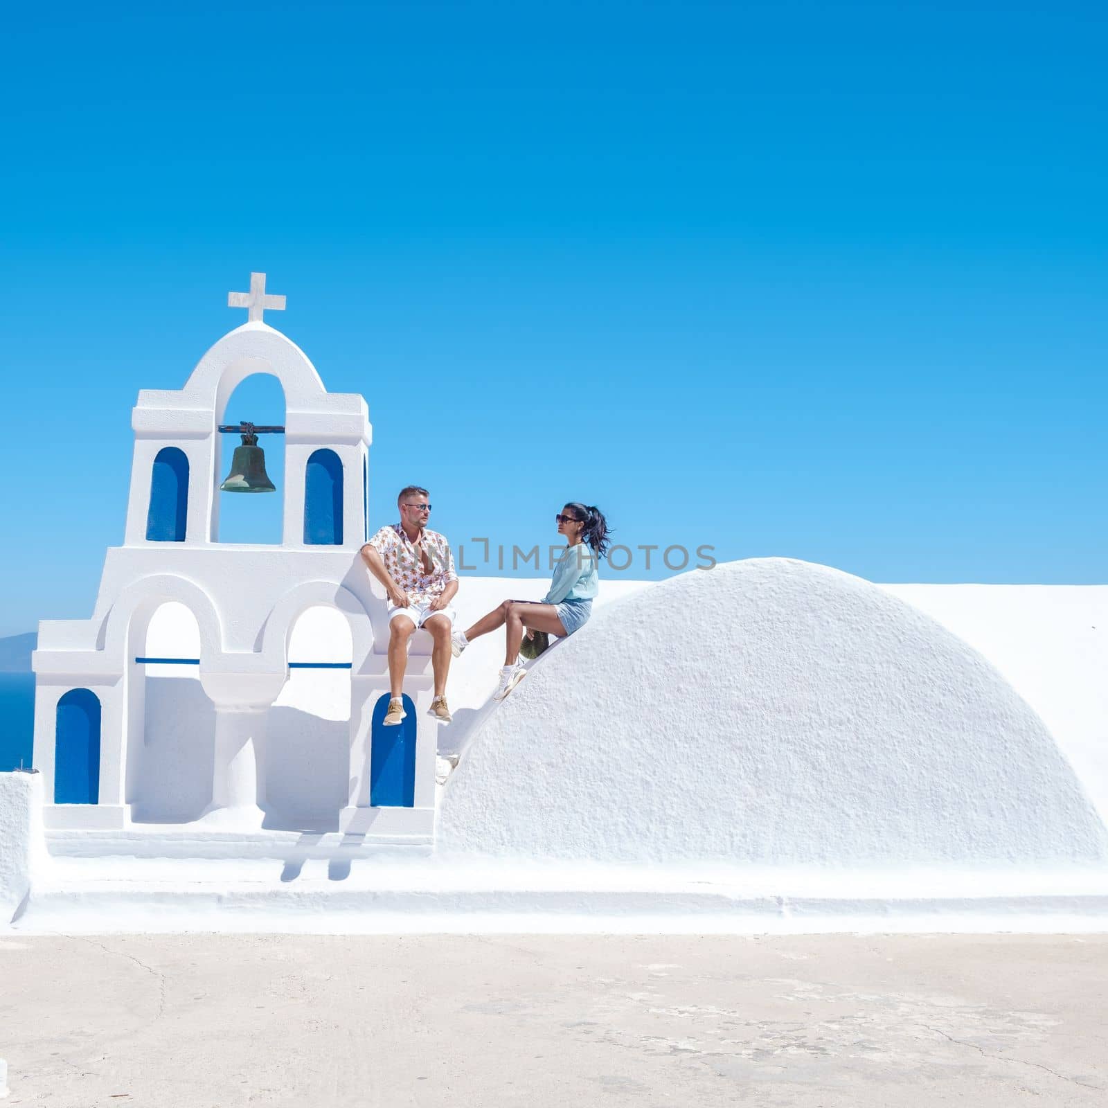
[{"label": "pale beige concrete terrace floor in the foreground", "polygon": [[1108,1102],[1108,936],[0,938],[4,1105]]}]

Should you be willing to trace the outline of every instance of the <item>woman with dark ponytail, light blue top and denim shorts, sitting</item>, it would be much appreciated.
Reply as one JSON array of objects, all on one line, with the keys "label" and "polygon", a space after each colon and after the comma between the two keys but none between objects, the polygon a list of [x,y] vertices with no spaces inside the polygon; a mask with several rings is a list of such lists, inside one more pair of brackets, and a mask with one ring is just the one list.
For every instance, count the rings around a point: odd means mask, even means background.
[{"label": "woman with dark ponytail, light blue top and denim shorts, sitting", "polygon": [[554,516],[557,532],[568,542],[554,570],[550,592],[537,604],[531,601],[504,601],[482,616],[472,627],[454,632],[452,648],[456,658],[471,639],[504,626],[504,668],[494,700],[503,700],[526,675],[520,661],[524,632],[530,638],[536,630],[565,637],[583,627],[592,615],[593,597],[598,589],[597,563],[608,548],[608,525],[598,507],[576,502],[566,504]]}]

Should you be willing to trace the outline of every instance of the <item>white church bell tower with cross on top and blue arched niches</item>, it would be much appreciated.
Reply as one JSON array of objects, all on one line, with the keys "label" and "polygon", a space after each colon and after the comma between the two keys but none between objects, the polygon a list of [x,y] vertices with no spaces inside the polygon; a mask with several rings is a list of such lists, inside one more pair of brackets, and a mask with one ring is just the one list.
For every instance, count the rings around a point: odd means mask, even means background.
[{"label": "white church bell tower with cross on top and blue arched niches", "polygon": [[[359,557],[368,408],[329,393],[265,322],[285,308],[265,284],[252,274],[249,293],[229,294],[247,321],[183,389],[140,391],[124,543],[107,551],[92,618],[40,624],[34,763],[53,801],[48,828],[431,839],[427,636],[404,686],[416,712],[407,727],[379,725],[386,603]],[[232,393],[256,373],[280,384],[284,424],[226,423]],[[223,443],[238,445],[235,434],[246,449],[232,466]],[[281,488],[263,492],[281,497],[279,545],[218,541],[222,499],[271,489],[253,441],[270,458],[284,450]]]}]

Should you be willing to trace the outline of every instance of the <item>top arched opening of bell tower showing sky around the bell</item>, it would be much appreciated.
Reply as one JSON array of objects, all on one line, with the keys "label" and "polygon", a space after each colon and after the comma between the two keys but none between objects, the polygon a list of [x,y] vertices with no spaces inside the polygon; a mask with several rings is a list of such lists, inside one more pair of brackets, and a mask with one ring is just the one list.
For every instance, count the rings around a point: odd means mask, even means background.
[{"label": "top arched opening of bell tower showing sky around the bell", "polygon": [[[285,425],[285,390],[273,373],[252,373],[238,382],[216,425],[254,423],[257,427]],[[285,435],[261,433],[257,447],[264,454],[265,484],[273,491],[256,491],[256,480],[230,481],[235,451],[244,445],[240,433],[216,435],[215,492],[212,509],[213,541],[248,545],[279,545],[284,541],[285,520]],[[260,460],[255,455],[256,460]],[[238,491],[224,491],[232,485]],[[250,491],[250,485],[255,491]],[[248,493],[248,494],[245,494]]]}]

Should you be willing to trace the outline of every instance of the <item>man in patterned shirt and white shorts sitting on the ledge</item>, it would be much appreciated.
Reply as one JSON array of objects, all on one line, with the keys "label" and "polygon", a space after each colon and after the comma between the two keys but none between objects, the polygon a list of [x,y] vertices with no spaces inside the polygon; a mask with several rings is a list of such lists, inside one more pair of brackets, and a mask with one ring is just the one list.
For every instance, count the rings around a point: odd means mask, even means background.
[{"label": "man in patterned shirt and white shorts sitting on the ledge", "polygon": [[404,718],[404,668],[408,642],[417,627],[425,627],[433,639],[431,667],[434,699],[429,715],[450,722],[447,707],[447,673],[450,669],[450,635],[454,609],[450,602],[458,592],[458,574],[450,544],[428,529],[431,514],[429,493],[419,485],[400,490],[397,504],[400,522],[381,527],[361,548],[369,572],[389,594],[389,683],[391,686],[387,727]]}]

